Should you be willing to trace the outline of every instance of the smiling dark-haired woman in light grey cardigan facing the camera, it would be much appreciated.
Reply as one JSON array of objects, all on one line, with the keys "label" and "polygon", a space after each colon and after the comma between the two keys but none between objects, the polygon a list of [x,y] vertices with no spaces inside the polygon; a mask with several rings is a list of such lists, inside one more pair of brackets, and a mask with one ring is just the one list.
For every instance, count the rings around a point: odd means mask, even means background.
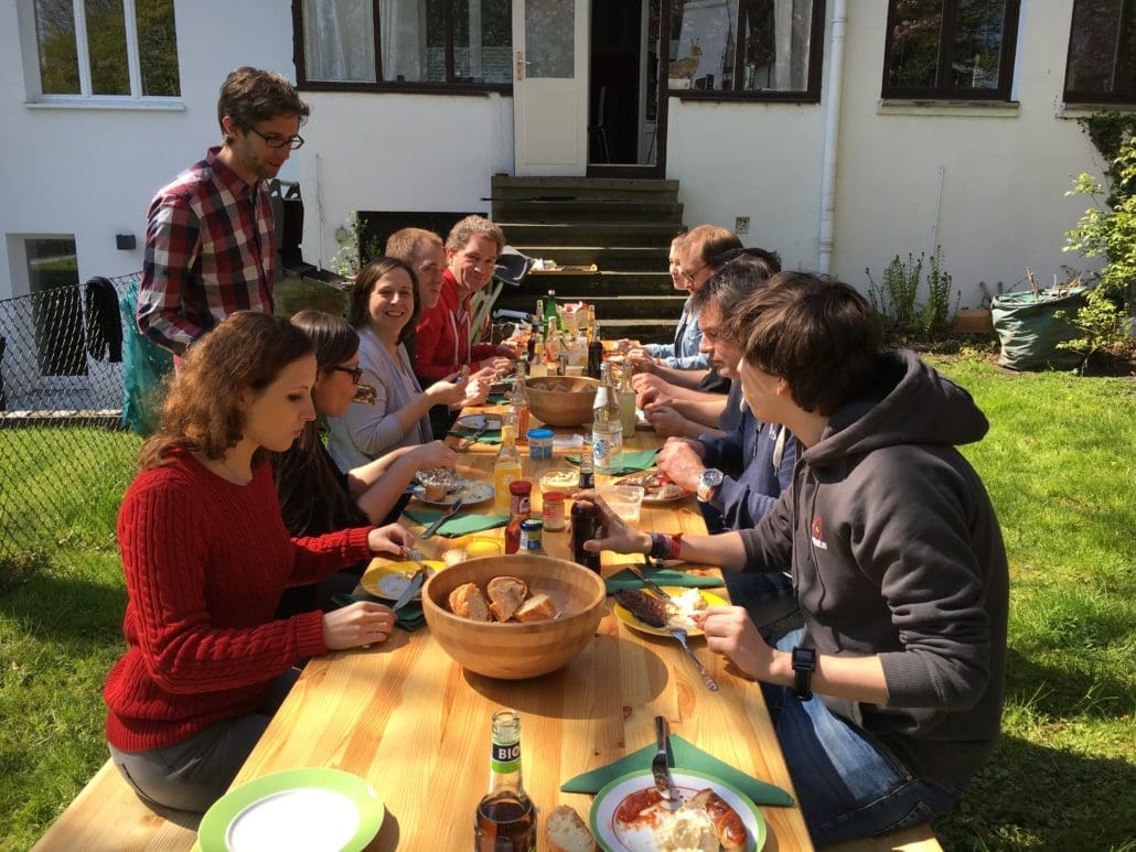
[{"label": "smiling dark-haired woman in light grey cardigan facing the camera", "polygon": [[[414,270],[395,258],[378,258],[356,278],[348,321],[359,332],[359,366],[364,382],[375,389],[375,403],[350,406],[331,418],[327,450],[341,470],[399,446],[428,444],[434,440],[431,407],[467,402],[467,376],[454,374],[425,390],[415,377],[404,341],[420,303]],[[483,393],[475,385],[468,401]]]}]

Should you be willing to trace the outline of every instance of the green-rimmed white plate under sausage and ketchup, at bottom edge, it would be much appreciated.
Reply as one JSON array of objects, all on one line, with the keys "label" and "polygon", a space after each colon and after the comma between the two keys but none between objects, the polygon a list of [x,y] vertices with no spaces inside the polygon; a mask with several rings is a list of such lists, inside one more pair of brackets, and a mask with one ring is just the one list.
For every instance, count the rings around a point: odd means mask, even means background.
[{"label": "green-rimmed white plate under sausage and ketchup, at bottom edge", "polygon": [[[693,799],[694,795],[707,787],[726,800],[726,803],[737,811],[745,825],[745,830],[750,835],[745,845],[745,852],[757,852],[766,843],[766,820],[761,816],[757,805],[745,795],[717,778],[701,772],[686,769],[673,769],[670,777],[683,794],[684,800]],[[654,778],[650,771],[632,772],[621,778],[616,778],[601,790],[595,801],[592,802],[591,827],[592,836],[596,838],[600,846],[608,852],[654,852],[657,844],[648,832],[637,829],[627,832],[617,828],[616,809],[632,793],[648,787],[654,787]]]}]

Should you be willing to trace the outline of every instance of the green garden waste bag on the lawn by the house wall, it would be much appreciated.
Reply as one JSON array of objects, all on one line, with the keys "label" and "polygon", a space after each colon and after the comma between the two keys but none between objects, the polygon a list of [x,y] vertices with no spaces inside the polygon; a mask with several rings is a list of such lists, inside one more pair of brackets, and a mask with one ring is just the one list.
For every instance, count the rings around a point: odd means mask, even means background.
[{"label": "green garden waste bag on the lawn by the house wall", "polygon": [[1077,327],[1054,316],[1059,310],[1072,316],[1085,303],[1086,287],[1003,293],[994,296],[991,314],[1001,352],[997,362],[1014,370],[1046,367],[1072,369],[1083,358],[1058,343],[1080,336]]}]

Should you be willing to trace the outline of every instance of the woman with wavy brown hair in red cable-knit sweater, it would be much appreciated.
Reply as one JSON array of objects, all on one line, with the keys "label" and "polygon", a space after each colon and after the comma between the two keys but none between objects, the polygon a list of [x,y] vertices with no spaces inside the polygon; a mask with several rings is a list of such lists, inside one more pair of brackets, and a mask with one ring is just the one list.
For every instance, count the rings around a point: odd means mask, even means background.
[{"label": "woman with wavy brown hair in red cable-knit sweater", "polygon": [[147,801],[202,811],[228,787],[308,657],[383,642],[378,603],[276,620],[289,586],[412,542],[402,527],[292,538],[268,452],[315,417],[312,343],[241,311],[194,344],[123,500],[126,654],[103,686],[107,741]]}]

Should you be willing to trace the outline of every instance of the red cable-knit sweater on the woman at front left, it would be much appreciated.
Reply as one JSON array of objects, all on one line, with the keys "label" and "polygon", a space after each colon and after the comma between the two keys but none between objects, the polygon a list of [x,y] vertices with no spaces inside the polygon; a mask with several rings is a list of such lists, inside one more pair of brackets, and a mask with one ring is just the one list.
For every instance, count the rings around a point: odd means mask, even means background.
[{"label": "red cable-knit sweater on the woman at front left", "polygon": [[103,686],[123,751],[183,742],[253,711],[273,678],[327,653],[323,615],[273,620],[286,586],[370,556],[369,527],[290,538],[272,467],[234,485],[184,452],[144,470],[118,515],[128,649]]}]

